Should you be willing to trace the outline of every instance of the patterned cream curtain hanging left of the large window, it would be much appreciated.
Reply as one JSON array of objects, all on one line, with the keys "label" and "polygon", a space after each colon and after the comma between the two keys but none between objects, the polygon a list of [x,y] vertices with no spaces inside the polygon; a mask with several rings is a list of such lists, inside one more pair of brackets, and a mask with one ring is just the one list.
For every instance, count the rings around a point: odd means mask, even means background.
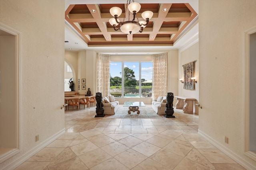
[{"label": "patterned cream curtain hanging left of the large window", "polygon": [[109,96],[110,92],[110,55],[97,53],[97,82],[96,92],[101,92],[102,97]]}]

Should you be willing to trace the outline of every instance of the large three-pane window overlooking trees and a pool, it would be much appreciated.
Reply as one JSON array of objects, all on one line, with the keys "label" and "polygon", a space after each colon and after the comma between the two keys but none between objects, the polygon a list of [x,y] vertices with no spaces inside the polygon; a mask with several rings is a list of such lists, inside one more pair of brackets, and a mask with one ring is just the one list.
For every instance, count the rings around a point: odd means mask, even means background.
[{"label": "large three-pane window overlooking trees and a pool", "polygon": [[152,62],[110,62],[110,94],[115,97],[151,97]]}]

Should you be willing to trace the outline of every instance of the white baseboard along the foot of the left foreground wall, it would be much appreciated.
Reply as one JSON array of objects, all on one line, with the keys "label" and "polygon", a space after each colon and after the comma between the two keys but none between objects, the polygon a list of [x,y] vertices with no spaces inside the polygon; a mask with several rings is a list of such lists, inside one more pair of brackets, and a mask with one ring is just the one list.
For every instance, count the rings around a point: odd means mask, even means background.
[{"label": "white baseboard along the foot of the left foreground wall", "polygon": [[2,170],[13,170],[15,168],[17,168],[18,166],[20,166],[23,162],[25,162],[26,160],[28,160],[31,156],[33,156],[34,154],[36,154],[37,152],[39,152],[40,150],[42,150],[44,147],[46,147],[47,145],[49,145],[50,143],[52,143],[53,141],[55,141],[56,139],[58,139],[61,135],[63,135],[65,133],[65,129],[62,129],[61,131],[59,131],[58,133],[56,133],[55,135],[53,135],[52,137],[46,139],[45,141],[43,141],[42,143],[40,143],[39,145],[37,145],[36,147],[32,148],[30,151],[28,151],[27,153],[23,154],[22,156],[20,156],[19,158],[17,158],[16,160],[12,161],[10,164],[8,164],[7,166],[5,166]]}]

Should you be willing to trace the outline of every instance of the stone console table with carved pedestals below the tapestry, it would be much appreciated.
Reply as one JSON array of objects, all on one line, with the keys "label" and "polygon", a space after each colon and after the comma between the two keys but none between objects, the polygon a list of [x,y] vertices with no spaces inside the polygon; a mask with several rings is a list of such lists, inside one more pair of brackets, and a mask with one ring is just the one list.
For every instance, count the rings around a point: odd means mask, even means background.
[{"label": "stone console table with carved pedestals below the tapestry", "polygon": [[194,113],[194,104],[193,101],[196,99],[194,98],[187,98],[184,96],[174,96],[178,101],[175,104],[176,109],[182,109],[183,113]]}]

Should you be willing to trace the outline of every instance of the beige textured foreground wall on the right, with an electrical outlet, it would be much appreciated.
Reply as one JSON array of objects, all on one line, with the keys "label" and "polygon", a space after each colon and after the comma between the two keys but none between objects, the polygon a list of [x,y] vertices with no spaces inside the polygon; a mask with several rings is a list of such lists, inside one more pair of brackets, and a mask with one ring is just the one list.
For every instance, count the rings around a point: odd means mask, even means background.
[{"label": "beige textured foreground wall on the right, with an electrical outlet", "polygon": [[244,32],[256,25],[255,7],[255,0],[199,0],[198,130],[256,167],[244,154]]}]

